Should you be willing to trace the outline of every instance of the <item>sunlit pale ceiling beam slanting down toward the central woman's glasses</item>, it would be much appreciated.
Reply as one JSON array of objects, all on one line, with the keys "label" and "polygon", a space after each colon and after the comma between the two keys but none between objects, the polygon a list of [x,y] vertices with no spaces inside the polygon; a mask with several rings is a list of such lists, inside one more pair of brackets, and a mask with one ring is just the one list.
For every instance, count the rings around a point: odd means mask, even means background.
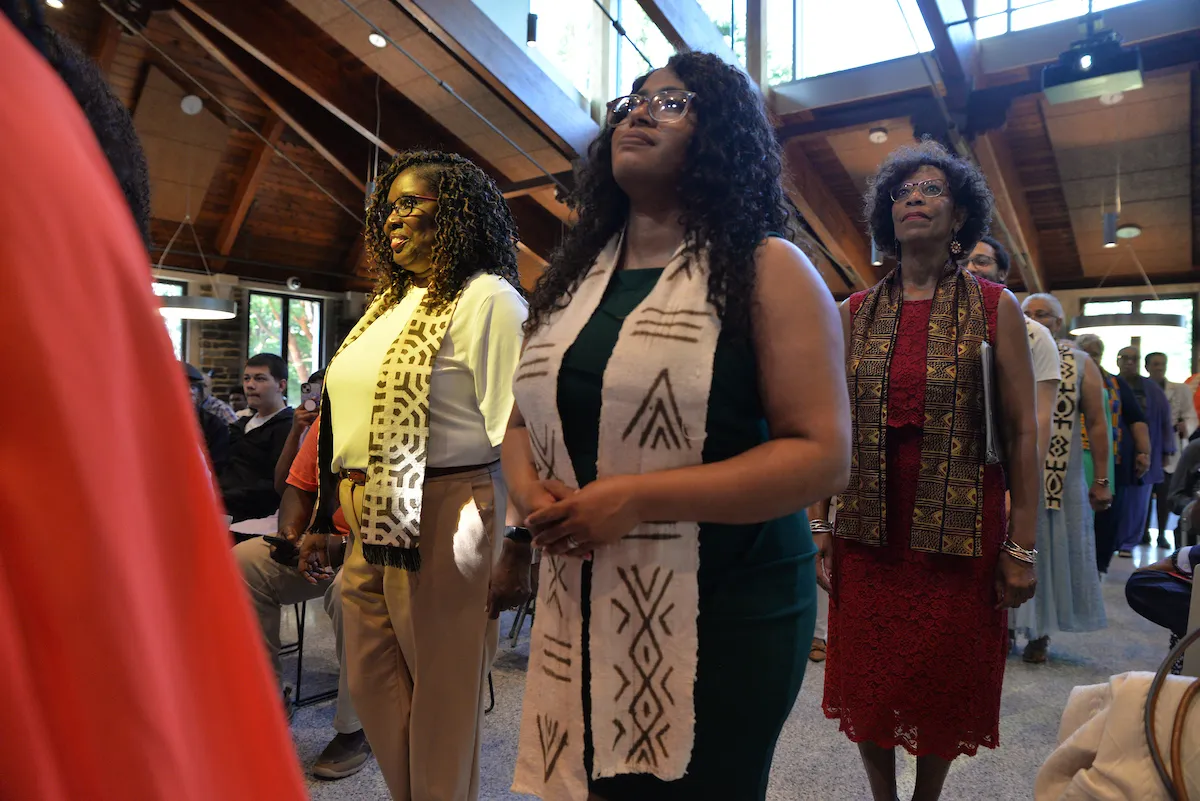
[{"label": "sunlit pale ceiling beam slanting down toward the central woman's glasses", "polygon": [[569,161],[587,153],[600,126],[473,0],[392,0],[487,86],[520,109]]}]

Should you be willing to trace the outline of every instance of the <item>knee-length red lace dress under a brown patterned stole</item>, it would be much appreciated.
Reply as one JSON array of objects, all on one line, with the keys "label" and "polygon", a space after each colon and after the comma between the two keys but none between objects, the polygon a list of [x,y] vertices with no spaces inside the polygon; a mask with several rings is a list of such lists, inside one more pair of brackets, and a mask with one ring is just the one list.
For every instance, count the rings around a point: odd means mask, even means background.
[{"label": "knee-length red lace dress under a brown patterned stole", "polygon": [[[990,337],[1002,287],[983,283]],[[851,297],[858,312],[865,293]],[[983,556],[912,550],[931,301],[907,301],[888,383],[883,547],[834,537],[824,713],[853,742],[953,759],[1000,742],[1008,620],[997,612],[1004,475],[984,469]]]}]

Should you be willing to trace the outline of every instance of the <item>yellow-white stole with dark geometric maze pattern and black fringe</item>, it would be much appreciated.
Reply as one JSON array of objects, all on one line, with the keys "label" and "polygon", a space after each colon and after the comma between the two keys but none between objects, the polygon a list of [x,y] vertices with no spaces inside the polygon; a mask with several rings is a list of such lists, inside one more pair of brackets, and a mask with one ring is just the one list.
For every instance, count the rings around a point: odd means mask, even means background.
[{"label": "yellow-white stole with dark geometric maze pattern and black fringe", "polygon": [[[421,568],[421,494],[430,442],[430,378],[456,305],[457,301],[452,301],[431,311],[422,299],[379,366],[371,406],[361,526],[362,558],[372,565]],[[337,354],[389,307],[383,297],[377,297]]]}]

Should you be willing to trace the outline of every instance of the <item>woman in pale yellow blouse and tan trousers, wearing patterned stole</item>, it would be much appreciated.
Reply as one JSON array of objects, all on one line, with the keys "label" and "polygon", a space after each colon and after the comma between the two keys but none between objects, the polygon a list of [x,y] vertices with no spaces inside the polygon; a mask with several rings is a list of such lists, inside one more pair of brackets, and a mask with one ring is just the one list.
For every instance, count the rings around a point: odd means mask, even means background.
[{"label": "woman in pale yellow blouse and tan trousers, wearing patterned stole", "polygon": [[472,801],[496,618],[528,594],[499,468],[527,314],[517,231],[479,167],[408,151],[379,176],[365,236],[376,297],[325,371],[319,483],[288,487],[281,535],[308,530],[299,570],[325,582],[341,508],[346,669],[370,749],[394,799]]}]

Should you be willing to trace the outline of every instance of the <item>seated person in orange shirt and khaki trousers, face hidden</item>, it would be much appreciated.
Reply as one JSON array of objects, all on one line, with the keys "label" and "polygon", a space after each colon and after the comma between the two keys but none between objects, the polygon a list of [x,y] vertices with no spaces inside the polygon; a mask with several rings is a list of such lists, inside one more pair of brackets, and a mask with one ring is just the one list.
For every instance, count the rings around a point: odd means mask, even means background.
[{"label": "seated person in orange shirt and khaki trousers, face hidden", "polygon": [[[298,412],[304,415],[305,412]],[[304,438],[300,451],[292,462],[287,487],[280,502],[280,536],[299,544],[317,498],[319,481],[317,470],[317,432],[313,426]],[[288,458],[284,452],[281,462]],[[334,524],[343,536],[349,534],[342,511],[337,510]],[[362,770],[371,757],[371,746],[362,733],[354,705],[350,703],[350,691],[347,685],[346,649],[342,643],[342,584],[341,573],[330,579],[310,583],[299,572],[295,564],[281,564],[272,555],[272,547],[262,537],[253,537],[239,543],[233,549],[241,568],[246,588],[250,590],[258,622],[263,628],[266,650],[275,666],[275,676],[283,673],[280,660],[280,612],[290,603],[304,603],[312,598],[325,597],[325,612],[334,624],[334,637],[337,642],[337,661],[341,676],[337,682],[337,711],[334,715],[334,729],[337,735],[325,746],[325,749],[313,763],[312,773],[320,778],[344,778]],[[292,713],[292,700],[284,694],[288,715]]]}]

